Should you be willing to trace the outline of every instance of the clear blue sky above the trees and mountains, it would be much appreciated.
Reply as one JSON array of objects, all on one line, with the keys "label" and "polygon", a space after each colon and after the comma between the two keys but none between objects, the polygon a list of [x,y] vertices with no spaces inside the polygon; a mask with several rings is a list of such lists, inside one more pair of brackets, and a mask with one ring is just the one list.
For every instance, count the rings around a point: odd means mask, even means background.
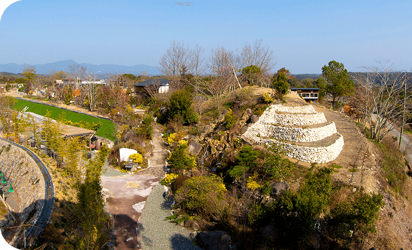
[{"label": "clear blue sky above the trees and mountains", "polygon": [[275,70],[320,73],[330,60],[349,71],[375,60],[412,68],[410,1],[191,1],[17,1],[0,20],[0,63],[156,66],[172,40],[199,43],[208,57],[263,39]]}]

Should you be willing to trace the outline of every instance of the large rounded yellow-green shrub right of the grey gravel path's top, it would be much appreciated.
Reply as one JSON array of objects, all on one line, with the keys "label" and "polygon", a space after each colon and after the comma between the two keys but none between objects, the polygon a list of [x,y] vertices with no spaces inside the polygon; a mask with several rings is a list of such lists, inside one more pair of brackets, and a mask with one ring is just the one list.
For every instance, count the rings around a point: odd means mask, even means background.
[{"label": "large rounded yellow-green shrub right of the grey gravel path's top", "polygon": [[183,209],[212,215],[220,212],[226,191],[222,178],[203,175],[185,180],[177,190],[175,200]]}]

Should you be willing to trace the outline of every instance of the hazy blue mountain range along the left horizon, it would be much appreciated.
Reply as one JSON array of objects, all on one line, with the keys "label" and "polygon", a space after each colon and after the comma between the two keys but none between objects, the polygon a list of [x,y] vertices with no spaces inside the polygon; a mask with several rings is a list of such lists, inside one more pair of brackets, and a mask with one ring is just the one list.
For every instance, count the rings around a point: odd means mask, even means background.
[{"label": "hazy blue mountain range along the left horizon", "polygon": [[[142,71],[146,71],[150,76],[160,75],[161,72],[156,66],[149,66],[146,64],[139,64],[133,66],[116,65],[116,64],[90,64],[90,63],[77,63],[74,60],[63,60],[46,64],[33,64],[36,67],[37,74],[49,74],[50,70],[54,69],[56,71],[64,70],[70,72],[69,65],[80,64],[81,66],[86,66],[91,72],[95,72],[98,75],[107,75],[109,73],[130,73],[134,75],[140,75]],[[10,72],[10,73],[21,73],[25,69],[24,64],[7,63],[0,64],[0,72]]]}]

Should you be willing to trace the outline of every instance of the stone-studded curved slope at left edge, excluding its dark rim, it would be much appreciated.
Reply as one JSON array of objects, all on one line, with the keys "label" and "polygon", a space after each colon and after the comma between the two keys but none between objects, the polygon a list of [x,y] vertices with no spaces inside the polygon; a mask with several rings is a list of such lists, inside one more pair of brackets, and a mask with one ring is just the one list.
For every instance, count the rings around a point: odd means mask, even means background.
[{"label": "stone-studded curved slope at left edge, excluding its dark rim", "polygon": [[[2,150],[3,148],[3,150]],[[5,174],[7,184],[12,182],[15,193],[19,196],[19,202],[8,202],[8,199],[13,200],[14,197],[6,199],[6,202],[11,206],[15,213],[21,213],[21,221],[25,221],[29,215],[36,209],[34,215],[27,223],[34,224],[38,218],[45,199],[45,180],[36,164],[35,160],[30,155],[13,144],[0,140],[0,169]]]}]

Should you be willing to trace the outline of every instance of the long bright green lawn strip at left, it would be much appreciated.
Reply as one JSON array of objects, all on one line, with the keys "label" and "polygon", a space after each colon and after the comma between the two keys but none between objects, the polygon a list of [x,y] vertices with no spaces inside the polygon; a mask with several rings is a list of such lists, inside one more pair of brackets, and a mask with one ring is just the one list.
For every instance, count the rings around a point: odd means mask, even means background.
[{"label": "long bright green lawn strip at left", "polygon": [[45,115],[47,110],[49,110],[52,113],[51,115],[52,119],[57,119],[61,113],[65,112],[66,113],[65,118],[73,122],[83,120],[87,122],[98,123],[100,121],[103,123],[103,125],[99,127],[99,129],[96,132],[96,135],[106,137],[110,140],[115,140],[115,137],[112,134],[114,130],[114,124],[111,120],[101,119],[101,118],[93,117],[93,116],[82,114],[82,113],[76,113],[73,111],[65,110],[62,108],[54,107],[54,106],[49,106],[49,105],[39,104],[39,103],[27,101],[27,100],[17,99],[17,103],[15,105],[15,108],[17,110],[20,111],[25,106],[29,107],[27,111],[34,112],[40,115]]}]

